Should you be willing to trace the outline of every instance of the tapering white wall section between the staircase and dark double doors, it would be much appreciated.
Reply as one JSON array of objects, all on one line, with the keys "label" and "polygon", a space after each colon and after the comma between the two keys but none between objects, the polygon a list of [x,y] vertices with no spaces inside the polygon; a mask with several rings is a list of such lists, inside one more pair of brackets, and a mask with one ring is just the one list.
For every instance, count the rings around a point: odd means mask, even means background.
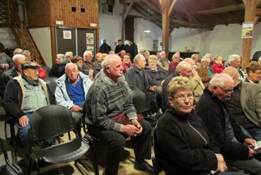
[{"label": "tapering white wall section between the staircase and dark double doors", "polygon": [[29,29],[37,47],[47,66],[52,67],[52,45],[50,28],[30,28]]}]

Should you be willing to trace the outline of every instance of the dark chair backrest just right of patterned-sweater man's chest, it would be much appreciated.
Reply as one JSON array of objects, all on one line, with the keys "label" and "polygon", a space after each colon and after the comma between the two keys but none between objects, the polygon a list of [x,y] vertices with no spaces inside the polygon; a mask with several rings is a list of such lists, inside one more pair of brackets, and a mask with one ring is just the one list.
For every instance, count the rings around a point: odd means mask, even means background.
[{"label": "dark chair backrest just right of patterned-sweater man's chest", "polygon": [[132,90],[129,91],[129,94],[132,96],[132,103],[134,104],[137,113],[144,113],[145,111],[149,111],[149,100],[143,91]]}]

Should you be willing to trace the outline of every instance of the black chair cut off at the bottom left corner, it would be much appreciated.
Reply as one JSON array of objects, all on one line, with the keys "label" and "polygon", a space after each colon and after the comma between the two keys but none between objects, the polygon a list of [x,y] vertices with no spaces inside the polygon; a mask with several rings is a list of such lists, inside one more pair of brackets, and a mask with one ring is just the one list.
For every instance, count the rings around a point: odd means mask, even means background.
[{"label": "black chair cut off at the bottom left corner", "polygon": [[11,164],[8,159],[6,149],[3,144],[3,140],[0,139],[0,154],[4,154],[4,159],[6,161],[6,175],[23,175],[22,169],[17,164]]}]

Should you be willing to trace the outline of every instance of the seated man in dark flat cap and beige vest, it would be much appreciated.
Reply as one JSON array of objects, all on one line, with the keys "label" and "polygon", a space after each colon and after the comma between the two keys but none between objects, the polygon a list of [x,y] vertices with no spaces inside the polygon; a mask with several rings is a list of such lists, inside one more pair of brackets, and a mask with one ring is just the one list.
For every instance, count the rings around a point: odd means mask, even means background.
[{"label": "seated man in dark flat cap and beige vest", "polygon": [[30,154],[28,129],[32,113],[53,102],[47,84],[39,79],[38,67],[34,62],[21,64],[22,74],[9,81],[4,92],[6,120],[15,120],[26,156]]}]

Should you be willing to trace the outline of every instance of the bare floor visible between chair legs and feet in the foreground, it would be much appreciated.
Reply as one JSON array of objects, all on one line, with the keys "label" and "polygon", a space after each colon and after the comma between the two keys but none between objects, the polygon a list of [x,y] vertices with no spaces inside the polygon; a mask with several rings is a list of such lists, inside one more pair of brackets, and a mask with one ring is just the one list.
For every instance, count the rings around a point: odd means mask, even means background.
[{"label": "bare floor visible between chair legs and feet in the foreground", "polygon": [[[0,116],[1,113],[3,113],[3,109],[0,106]],[[83,134],[83,131],[82,131]],[[4,139],[4,120],[3,120],[3,116],[0,117],[0,137],[2,139]],[[74,137],[74,133],[71,132],[71,137]],[[61,138],[62,141],[66,142],[68,140],[68,135],[64,135],[64,137]],[[11,159],[11,145],[9,144],[8,140],[5,142],[5,145],[8,149],[8,155],[9,155],[9,159]],[[96,156],[98,159],[98,164],[99,164],[99,173],[100,175],[103,174],[103,169],[105,168],[105,155],[106,155],[106,147],[104,147],[103,145],[96,145],[97,149],[96,149]],[[23,149],[19,148],[18,150],[20,152],[20,154],[23,154]],[[151,152],[153,154],[153,148],[151,149]],[[124,175],[124,174],[129,174],[129,175],[142,175],[142,174],[146,174],[144,171],[137,171],[136,169],[134,169],[134,151],[132,149],[132,143],[130,142],[130,140],[127,140],[125,148],[124,148],[124,152],[122,152],[122,157],[121,157],[121,162],[120,162],[120,166],[119,166],[119,175]],[[149,164],[151,163],[151,160],[148,161]],[[4,162],[4,156],[0,156],[0,166],[3,166],[5,164]],[[23,160],[21,159],[21,157],[18,158],[18,164],[20,166],[22,166],[23,171],[26,172],[27,171],[27,167],[24,166],[23,164]],[[86,154],[86,156],[81,157],[81,159],[79,160],[79,163],[76,164],[78,168],[76,168],[76,166],[74,166],[74,162],[70,162],[68,164],[50,164],[47,166],[43,166],[41,168],[41,171],[43,172],[43,174],[81,174],[81,172],[83,174],[94,174],[93,172],[93,168],[92,168],[92,164],[90,159],[88,159],[88,154]],[[81,172],[79,171],[79,169],[81,170]],[[33,171],[32,174],[36,174],[35,171]],[[161,175],[164,173],[161,173]]]}]

